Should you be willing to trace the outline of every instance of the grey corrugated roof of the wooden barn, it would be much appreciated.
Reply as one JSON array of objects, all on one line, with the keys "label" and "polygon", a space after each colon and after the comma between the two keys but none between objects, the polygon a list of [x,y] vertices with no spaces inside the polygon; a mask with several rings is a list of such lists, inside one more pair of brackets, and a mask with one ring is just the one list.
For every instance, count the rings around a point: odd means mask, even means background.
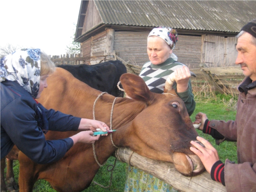
[{"label": "grey corrugated roof of the wooden barn", "polygon": [[105,24],[240,32],[256,18],[256,1],[94,0]]}]

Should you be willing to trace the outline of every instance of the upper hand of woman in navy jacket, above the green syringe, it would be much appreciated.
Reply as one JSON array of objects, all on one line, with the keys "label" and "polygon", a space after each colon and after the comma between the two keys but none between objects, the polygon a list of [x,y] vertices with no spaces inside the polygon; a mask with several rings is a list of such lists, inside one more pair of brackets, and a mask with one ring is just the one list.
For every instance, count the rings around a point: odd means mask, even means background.
[{"label": "upper hand of woman in navy jacket, above the green syringe", "polygon": [[[91,131],[96,131],[97,128],[100,128],[102,131],[108,131],[110,128],[105,122],[93,120],[93,119],[81,119],[80,125],[79,125],[79,130],[91,130]],[[107,136],[108,134],[104,134]]]}]

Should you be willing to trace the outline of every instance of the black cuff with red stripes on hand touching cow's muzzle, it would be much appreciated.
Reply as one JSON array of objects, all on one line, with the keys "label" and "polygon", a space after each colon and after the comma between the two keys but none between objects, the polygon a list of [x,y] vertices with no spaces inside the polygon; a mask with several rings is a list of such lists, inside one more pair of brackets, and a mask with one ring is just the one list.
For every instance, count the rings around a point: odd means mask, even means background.
[{"label": "black cuff with red stripes on hand touching cow's muzzle", "polygon": [[225,186],[224,166],[225,164],[221,160],[216,161],[211,169],[211,178]]}]

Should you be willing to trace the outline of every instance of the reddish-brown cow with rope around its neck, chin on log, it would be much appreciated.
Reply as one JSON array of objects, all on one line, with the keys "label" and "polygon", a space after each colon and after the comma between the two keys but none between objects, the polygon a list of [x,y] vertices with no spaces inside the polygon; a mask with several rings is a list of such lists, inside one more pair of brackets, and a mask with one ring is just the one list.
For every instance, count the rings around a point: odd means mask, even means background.
[{"label": "reddish-brown cow with rope around its neck, chin on log", "polygon": [[[129,147],[148,158],[172,162],[182,174],[192,176],[204,171],[198,156],[189,150],[190,141],[198,136],[183,101],[174,96],[149,91],[139,76],[124,74],[121,83],[132,99],[117,98],[113,108],[113,143]],[[48,88],[38,99],[46,108],[63,113],[93,119],[93,103],[102,93],[74,78],[69,72],[57,69],[48,78]],[[112,103],[115,97],[103,94],[96,102],[95,117],[110,126]],[[70,137],[76,131],[49,131],[47,140]],[[104,163],[116,148],[110,134],[95,143],[99,163]],[[99,165],[93,156],[91,144],[77,143],[58,162],[47,165],[34,163],[22,152],[19,153],[20,192],[32,192],[36,180],[49,181],[52,188],[61,192],[79,192],[87,188]]]}]

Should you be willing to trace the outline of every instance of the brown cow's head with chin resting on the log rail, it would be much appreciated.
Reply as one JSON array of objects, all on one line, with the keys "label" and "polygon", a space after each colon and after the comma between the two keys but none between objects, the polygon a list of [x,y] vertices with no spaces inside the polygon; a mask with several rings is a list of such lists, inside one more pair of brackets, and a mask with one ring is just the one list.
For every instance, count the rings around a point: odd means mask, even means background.
[{"label": "brown cow's head with chin resting on the log rail", "polygon": [[184,102],[166,86],[164,94],[152,93],[143,79],[132,74],[120,78],[126,94],[147,107],[131,122],[125,140],[133,151],[151,159],[172,162],[183,175],[198,175],[204,166],[190,151],[198,136]]}]

